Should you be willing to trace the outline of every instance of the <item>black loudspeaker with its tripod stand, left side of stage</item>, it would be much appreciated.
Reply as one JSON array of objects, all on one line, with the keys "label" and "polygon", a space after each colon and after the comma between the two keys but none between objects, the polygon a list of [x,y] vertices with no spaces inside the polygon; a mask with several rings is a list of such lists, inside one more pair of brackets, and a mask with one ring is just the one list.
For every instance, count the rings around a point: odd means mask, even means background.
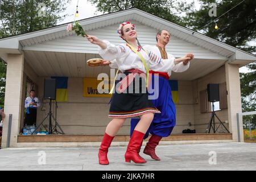
[{"label": "black loudspeaker with its tripod stand, left side of stage", "polygon": [[[36,127],[35,131],[43,124],[43,122],[49,117],[49,134],[64,134],[64,131],[61,129],[57,119],[54,117],[52,113],[52,100],[56,100],[56,79],[53,78],[46,78],[44,79],[44,99],[49,99],[49,113],[43,119],[42,122]],[[55,126],[52,128],[52,119],[55,121]],[[57,127],[59,127],[60,131],[57,131]],[[32,133],[34,134],[35,131]]]}]

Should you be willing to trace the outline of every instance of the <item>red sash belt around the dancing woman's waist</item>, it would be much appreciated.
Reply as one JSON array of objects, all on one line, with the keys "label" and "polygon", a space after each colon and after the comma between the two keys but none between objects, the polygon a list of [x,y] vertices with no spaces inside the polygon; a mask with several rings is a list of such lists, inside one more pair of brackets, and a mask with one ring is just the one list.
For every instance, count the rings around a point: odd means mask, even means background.
[{"label": "red sash belt around the dancing woman's waist", "polygon": [[119,81],[120,86],[117,88],[118,92],[123,93],[123,91],[133,82],[134,78],[137,75],[141,75],[142,77],[146,77],[146,74],[139,69],[128,69],[126,72],[130,72],[125,78]]}]

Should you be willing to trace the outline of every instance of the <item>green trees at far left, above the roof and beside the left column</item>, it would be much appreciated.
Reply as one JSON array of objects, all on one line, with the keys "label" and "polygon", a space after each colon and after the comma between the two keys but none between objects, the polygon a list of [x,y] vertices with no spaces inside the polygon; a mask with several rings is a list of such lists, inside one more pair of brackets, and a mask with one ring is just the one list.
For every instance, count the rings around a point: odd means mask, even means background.
[{"label": "green trees at far left, above the roof and beside the left column", "polygon": [[[56,26],[70,0],[2,0],[0,38]],[[45,12],[45,14],[44,14]],[[5,98],[6,63],[0,59],[0,106]]]}]

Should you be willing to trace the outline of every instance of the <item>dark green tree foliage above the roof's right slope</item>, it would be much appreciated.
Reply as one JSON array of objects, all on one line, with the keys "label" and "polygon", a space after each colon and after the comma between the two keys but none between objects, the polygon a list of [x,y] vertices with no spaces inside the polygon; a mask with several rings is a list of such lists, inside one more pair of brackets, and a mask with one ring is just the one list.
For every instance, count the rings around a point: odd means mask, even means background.
[{"label": "dark green tree foliage above the roof's right slope", "polygon": [[[199,10],[187,9],[184,17],[186,26],[195,31],[201,29],[210,38],[220,40],[230,46],[240,48],[247,52],[256,52],[256,47],[248,44],[256,39],[256,1],[255,0],[199,0],[201,7]],[[242,2],[240,5],[238,3]],[[210,3],[216,3],[217,17],[226,13],[216,20],[218,29],[215,30],[215,23],[210,23],[216,16],[209,16]],[[208,24],[207,26],[205,26]],[[203,28],[202,28],[203,27]]]}]

